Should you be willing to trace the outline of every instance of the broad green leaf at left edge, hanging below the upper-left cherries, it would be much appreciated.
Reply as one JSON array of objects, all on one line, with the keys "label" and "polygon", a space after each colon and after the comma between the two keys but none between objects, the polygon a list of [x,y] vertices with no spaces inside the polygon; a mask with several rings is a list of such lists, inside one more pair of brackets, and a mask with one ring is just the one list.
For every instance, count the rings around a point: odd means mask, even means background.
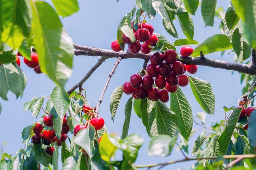
[{"label": "broad green leaf at left edge, hanging below the upper-left cherries", "polygon": [[0,66],[0,79],[0,97],[8,100],[7,93],[10,90],[18,98],[21,91],[21,79],[17,68],[11,63],[2,64]]}]

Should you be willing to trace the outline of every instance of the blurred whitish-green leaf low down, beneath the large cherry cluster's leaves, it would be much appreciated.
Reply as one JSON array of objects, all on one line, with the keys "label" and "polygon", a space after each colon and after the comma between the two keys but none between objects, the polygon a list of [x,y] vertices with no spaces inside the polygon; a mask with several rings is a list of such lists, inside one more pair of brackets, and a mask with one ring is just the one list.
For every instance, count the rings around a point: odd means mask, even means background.
[{"label": "blurred whitish-green leaf low down, beneath the large cherry cluster's leaves", "polygon": [[158,135],[151,138],[149,143],[148,155],[157,157],[166,157],[170,155],[172,146],[176,143],[176,139],[168,135]]}]

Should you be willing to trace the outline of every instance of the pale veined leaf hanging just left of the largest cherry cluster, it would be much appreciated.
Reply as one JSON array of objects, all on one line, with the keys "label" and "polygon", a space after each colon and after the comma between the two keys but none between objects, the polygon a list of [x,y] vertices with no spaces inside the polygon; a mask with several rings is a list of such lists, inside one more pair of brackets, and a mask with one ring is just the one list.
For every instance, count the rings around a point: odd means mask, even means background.
[{"label": "pale veined leaf hanging just left of the largest cherry cluster", "polygon": [[123,95],[123,86],[118,86],[111,94],[110,112],[111,112],[111,119],[113,121],[115,120],[115,115],[117,113],[117,108],[120,103],[122,95]]}]

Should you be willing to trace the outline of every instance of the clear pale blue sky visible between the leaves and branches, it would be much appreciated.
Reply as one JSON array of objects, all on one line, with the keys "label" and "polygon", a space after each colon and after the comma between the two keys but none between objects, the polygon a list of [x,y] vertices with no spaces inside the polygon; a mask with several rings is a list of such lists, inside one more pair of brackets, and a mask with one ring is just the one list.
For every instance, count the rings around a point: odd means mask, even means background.
[{"label": "clear pale blue sky visible between the leaves and branches", "polygon": [[[124,15],[135,6],[135,0],[120,0],[119,3],[115,0],[93,0],[93,1],[82,1],[79,0],[80,11],[74,15],[62,19],[62,22],[67,29],[67,32],[72,37],[74,43],[85,46],[98,47],[102,49],[110,49],[112,41],[116,40],[117,26]],[[224,7],[227,9],[229,1],[218,1],[217,7]],[[202,20],[200,7],[196,12],[196,17],[192,16],[195,26],[194,39],[198,42],[202,42],[209,36],[221,33],[219,30],[220,19],[216,18],[214,27],[207,26]],[[49,18],[50,19],[50,18]],[[146,20],[154,26],[155,32],[164,35],[170,41],[174,42],[175,39],[169,35],[162,25],[162,19],[157,15],[153,20],[146,18]],[[176,26],[179,39],[185,38],[179,23],[177,20],[174,21]],[[193,46],[194,47],[194,46]],[[180,47],[177,47],[180,50]],[[230,51],[229,51],[230,52]],[[232,61],[234,53],[227,54],[223,57],[220,53],[213,53],[206,55],[208,58],[216,60]],[[23,58],[21,58],[23,60]],[[68,90],[81,77],[90,69],[90,67],[97,61],[98,57],[88,56],[74,56],[74,73],[70,80],[66,84]],[[92,106],[95,106],[101,95],[101,91],[106,83],[108,74],[110,73],[116,59],[108,59],[93,73],[93,75],[83,84],[83,87],[87,91],[87,99]],[[99,114],[105,119],[106,126],[109,132],[115,132],[121,136],[121,130],[124,122],[124,106],[130,95],[123,95],[121,103],[117,110],[115,123],[110,119],[110,95],[112,91],[119,85],[128,81],[130,75],[140,71],[143,65],[143,61],[139,59],[122,60],[115,74],[110,80],[110,84],[103,98]],[[8,94],[9,101],[0,99],[3,109],[0,115],[0,144],[6,142],[4,151],[8,153],[15,153],[19,148],[23,148],[24,145],[21,143],[22,136],[21,131],[24,127],[29,126],[37,119],[31,116],[30,112],[26,112],[23,109],[23,104],[31,100],[33,96],[40,97],[41,95],[50,95],[53,88],[56,86],[49,78],[44,74],[36,74],[33,69],[27,67],[23,61],[21,61],[21,67],[28,78],[27,87],[24,92],[22,99],[15,99],[12,93]],[[211,83],[213,92],[216,96],[216,109],[215,114],[207,115],[207,125],[210,126],[211,122],[219,121],[224,119],[223,106],[234,106],[237,105],[238,98],[242,95],[240,85],[240,75],[238,73],[231,74],[231,71],[221,70],[216,68],[198,66],[198,72],[193,75],[200,79],[203,79]],[[187,99],[191,104],[193,115],[202,112],[202,108],[196,102],[191,92],[190,86],[182,87],[182,91],[186,95]],[[167,104],[169,105],[169,103]],[[43,112],[40,112],[42,115]],[[194,126],[194,128],[199,128]],[[191,150],[193,142],[200,134],[198,131],[194,137],[189,141],[189,156],[191,156]],[[159,163],[165,161],[171,161],[182,158],[180,152],[172,152],[172,155],[166,158],[162,157],[150,157],[147,155],[148,137],[141,120],[132,112],[129,134],[137,133],[144,138],[145,142],[139,151],[139,156],[136,164],[147,164],[147,163]],[[188,168],[192,162],[189,163],[177,163],[162,170],[177,169],[177,168]]]}]

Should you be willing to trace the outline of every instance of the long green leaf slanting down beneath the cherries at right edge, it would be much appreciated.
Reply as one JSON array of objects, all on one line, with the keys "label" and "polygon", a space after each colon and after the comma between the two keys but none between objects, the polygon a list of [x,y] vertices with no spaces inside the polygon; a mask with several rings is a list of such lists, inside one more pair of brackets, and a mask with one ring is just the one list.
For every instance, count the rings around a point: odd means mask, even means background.
[{"label": "long green leaf slanting down beneath the cherries at right edge", "polygon": [[226,154],[227,147],[229,146],[229,142],[231,140],[231,137],[234,133],[234,130],[236,128],[236,123],[238,121],[239,115],[242,111],[242,108],[236,108],[233,113],[229,116],[229,119],[227,120],[227,125],[223,132],[221,133],[218,143],[219,143],[219,151],[222,154]]}]

